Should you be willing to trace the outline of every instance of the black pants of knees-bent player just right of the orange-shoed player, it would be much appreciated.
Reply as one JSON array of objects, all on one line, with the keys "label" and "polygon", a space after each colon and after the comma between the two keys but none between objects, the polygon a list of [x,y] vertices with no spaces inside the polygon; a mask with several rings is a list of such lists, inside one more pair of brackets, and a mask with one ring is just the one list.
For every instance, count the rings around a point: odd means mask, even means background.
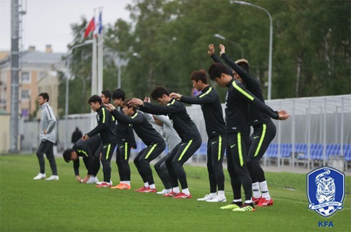
[{"label": "black pants of knees-bent player just right of the orange-shoed player", "polygon": [[164,140],[161,140],[158,143],[149,145],[149,147],[145,147],[139,152],[136,158],[134,158],[134,164],[136,165],[136,169],[138,169],[143,182],[148,182],[149,184],[155,183],[153,181],[150,162],[154,158],[160,156],[165,148],[166,143],[164,143]]}]

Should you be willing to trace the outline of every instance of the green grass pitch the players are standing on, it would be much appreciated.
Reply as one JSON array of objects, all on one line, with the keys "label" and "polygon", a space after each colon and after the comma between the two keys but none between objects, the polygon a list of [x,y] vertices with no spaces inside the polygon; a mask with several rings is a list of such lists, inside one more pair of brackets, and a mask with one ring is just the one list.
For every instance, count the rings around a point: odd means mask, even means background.
[{"label": "green grass pitch the players are standing on", "polygon": [[[266,173],[273,207],[235,213],[219,209],[225,203],[196,200],[209,191],[204,167],[185,167],[193,196],[189,200],[79,184],[72,163],[62,158],[56,162],[59,181],[34,181],[39,171],[35,155],[0,156],[1,231],[351,231],[350,176],[344,209],[323,218],[307,209],[305,174]],[[85,173],[82,165],[81,173]],[[112,181],[118,183],[116,163],[111,166]],[[50,176],[47,160],[46,168]],[[132,189],[141,187],[133,163],[131,173]],[[225,174],[226,197],[231,201],[226,170]],[[154,176],[156,186],[162,189],[155,171]],[[332,221],[334,228],[319,228],[319,221]]]}]

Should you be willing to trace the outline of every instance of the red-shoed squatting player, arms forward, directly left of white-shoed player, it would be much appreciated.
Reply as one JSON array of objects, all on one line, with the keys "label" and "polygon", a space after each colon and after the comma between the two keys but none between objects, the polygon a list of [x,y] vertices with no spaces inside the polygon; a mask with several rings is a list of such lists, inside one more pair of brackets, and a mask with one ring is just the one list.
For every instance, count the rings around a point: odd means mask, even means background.
[{"label": "red-shoed squatting player, arms forward, directly left of white-shoed player", "polygon": [[[171,151],[171,155],[166,160],[173,190],[164,196],[191,198],[183,165],[201,146],[202,138],[195,123],[193,123],[193,120],[189,117],[184,104],[175,101],[175,98],[171,98],[166,88],[162,86],[156,87],[151,92],[151,98],[154,101],[158,101],[160,105],[143,102],[138,98],[133,98],[131,104],[139,106],[142,112],[149,114],[167,114],[169,119],[173,121],[173,128],[182,139],[182,142],[175,146]],[[182,187],[182,192],[179,190],[178,180]]]}]

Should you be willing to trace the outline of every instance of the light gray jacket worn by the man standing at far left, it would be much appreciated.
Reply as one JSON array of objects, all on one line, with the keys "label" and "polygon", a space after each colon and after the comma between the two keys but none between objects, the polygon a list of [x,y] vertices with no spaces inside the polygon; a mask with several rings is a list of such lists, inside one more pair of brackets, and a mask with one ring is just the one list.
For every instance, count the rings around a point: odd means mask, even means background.
[{"label": "light gray jacket worn by the man standing at far left", "polygon": [[[56,118],[52,107],[49,103],[44,103],[40,106],[41,109],[41,120],[40,120],[40,140],[49,140],[52,143],[56,143]],[[44,130],[46,129],[46,134]]]}]

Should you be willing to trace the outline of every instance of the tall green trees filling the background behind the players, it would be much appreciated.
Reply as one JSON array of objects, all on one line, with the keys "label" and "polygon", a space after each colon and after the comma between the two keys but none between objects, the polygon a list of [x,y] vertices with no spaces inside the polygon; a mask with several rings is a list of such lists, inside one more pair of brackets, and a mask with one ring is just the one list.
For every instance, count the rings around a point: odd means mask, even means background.
[{"label": "tall green trees filling the background behind the players", "polygon": [[[351,93],[350,1],[251,3],[266,8],[273,17],[273,98]],[[132,21],[116,19],[105,26],[104,37],[106,51],[129,59],[121,70],[127,97],[143,98],[156,85],[190,94],[191,72],[206,70],[213,63],[206,54],[209,43],[215,43],[216,52],[223,43],[232,59],[242,58],[237,45],[215,38],[216,33],[241,45],[251,74],[259,78],[266,94],[269,19],[263,10],[230,1],[200,0],[140,0],[127,10]],[[72,45],[82,42],[86,25],[85,19],[72,25]],[[85,102],[90,91],[91,48],[76,49],[73,58],[73,82],[81,86],[76,95]],[[105,60],[104,69],[104,88],[116,89],[118,67]],[[224,101],[226,89],[217,89]],[[87,107],[70,106],[70,114],[87,111]]]}]

